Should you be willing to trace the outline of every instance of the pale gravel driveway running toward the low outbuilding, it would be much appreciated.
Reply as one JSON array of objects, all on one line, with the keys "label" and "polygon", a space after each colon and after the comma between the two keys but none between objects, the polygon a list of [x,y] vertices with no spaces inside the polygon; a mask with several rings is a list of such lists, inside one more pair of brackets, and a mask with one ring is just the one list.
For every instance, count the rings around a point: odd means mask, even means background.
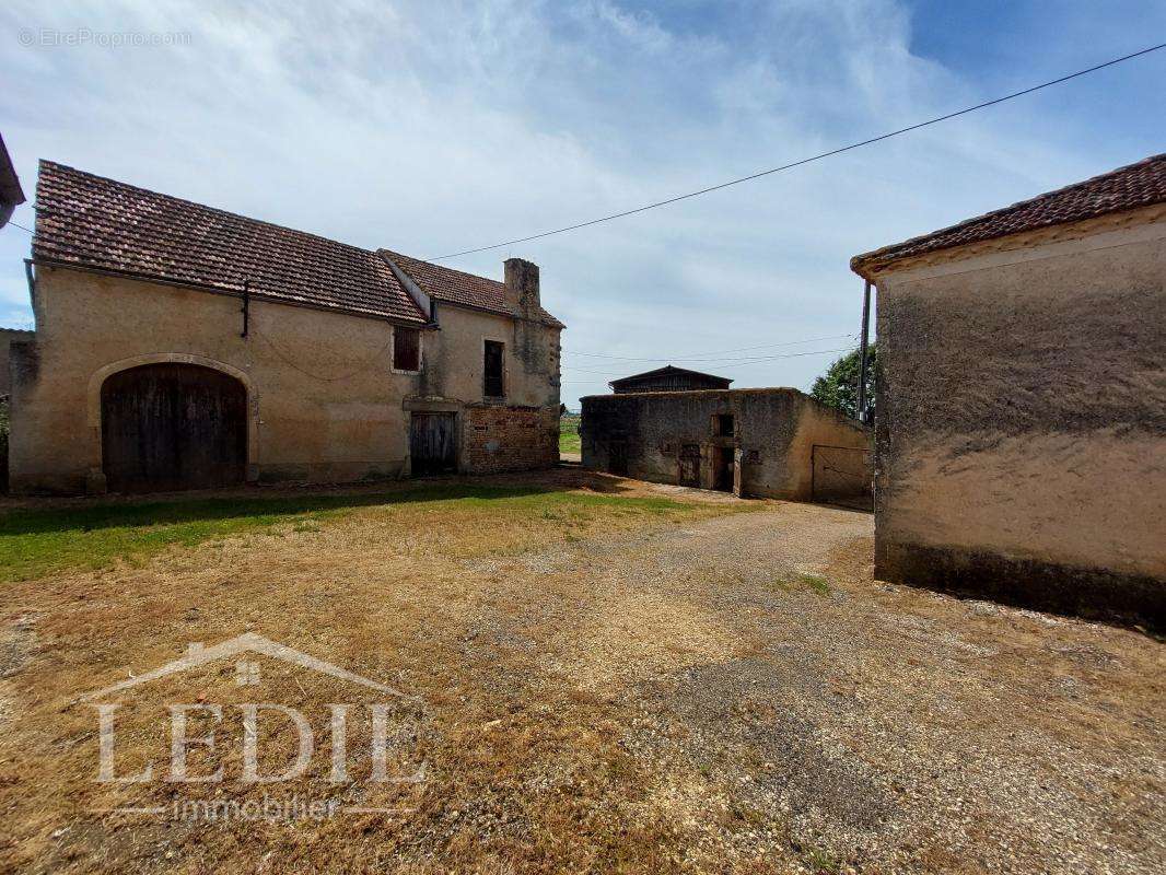
[{"label": "pale gravel driveway running toward the low outbuilding", "polygon": [[634,715],[700,868],[1166,869],[1161,645],[878,583],[871,551],[870,514],[772,504],[512,570],[578,569],[522,620],[562,623],[542,682]]}]

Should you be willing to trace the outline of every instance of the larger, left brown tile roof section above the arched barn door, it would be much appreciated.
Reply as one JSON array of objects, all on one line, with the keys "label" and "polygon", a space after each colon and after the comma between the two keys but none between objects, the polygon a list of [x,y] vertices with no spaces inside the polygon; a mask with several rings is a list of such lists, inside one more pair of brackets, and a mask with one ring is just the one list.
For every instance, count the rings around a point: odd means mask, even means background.
[{"label": "larger, left brown tile roof section above the arched barn door", "polygon": [[41,161],[33,257],[399,322],[424,314],[375,252]]}]

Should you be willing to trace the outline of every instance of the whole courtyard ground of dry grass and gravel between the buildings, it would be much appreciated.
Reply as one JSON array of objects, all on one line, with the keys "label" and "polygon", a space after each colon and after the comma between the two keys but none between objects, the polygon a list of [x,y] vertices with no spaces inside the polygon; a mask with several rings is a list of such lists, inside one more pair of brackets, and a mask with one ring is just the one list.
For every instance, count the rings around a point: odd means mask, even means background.
[{"label": "whole courtyard ground of dry grass and gravel between the buildings", "polygon": [[[0,866],[1166,868],[1159,642],[874,581],[863,512],[578,470],[499,482],[686,508],[632,514],[614,503],[584,519],[563,505],[361,506],[139,566],[6,584]],[[105,813],[257,792],[233,777],[227,719],[219,746],[192,755],[199,774],[224,765],[224,784],[96,782],[97,720],[78,701],[189,642],[245,631],[415,696],[399,714],[401,750],[424,779],[329,788],[324,754],[296,791],[323,785],[357,813],[294,824]],[[283,702],[326,737],[326,704],[351,691],[268,662],[258,690],[238,685],[234,665],[198,670],[135,693],[134,714]],[[164,772],[164,726],[133,716],[119,733],[119,774],[146,762]],[[349,749],[366,735],[353,728]]]}]

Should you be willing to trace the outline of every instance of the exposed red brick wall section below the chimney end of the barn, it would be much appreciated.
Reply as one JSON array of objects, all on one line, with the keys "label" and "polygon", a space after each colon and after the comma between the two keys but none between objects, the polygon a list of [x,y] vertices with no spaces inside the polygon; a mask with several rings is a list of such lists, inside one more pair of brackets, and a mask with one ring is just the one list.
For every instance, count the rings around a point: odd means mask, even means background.
[{"label": "exposed red brick wall section below the chimney end of the barn", "polygon": [[550,468],[559,462],[559,411],[466,407],[462,446],[464,468],[470,474]]}]

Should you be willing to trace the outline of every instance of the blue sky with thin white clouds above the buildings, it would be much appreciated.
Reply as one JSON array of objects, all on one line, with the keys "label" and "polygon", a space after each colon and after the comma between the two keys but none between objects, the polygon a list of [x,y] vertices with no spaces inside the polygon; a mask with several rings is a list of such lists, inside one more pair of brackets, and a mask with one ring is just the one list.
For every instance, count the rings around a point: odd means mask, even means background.
[{"label": "blue sky with thin white clouds above the buildings", "polygon": [[[1166,4],[106,2],[0,8],[0,131],[36,160],[434,257],[784,163],[1166,40]],[[185,46],[33,46],[23,28]],[[666,360],[806,387],[851,256],[1166,150],[1166,51],[871,148],[450,261],[542,268],[563,398]],[[29,205],[14,219],[31,225]],[[0,231],[0,324],[31,321]],[[751,352],[723,352],[785,344]],[[793,358],[733,360],[814,352]],[[715,354],[715,355],[709,355]],[[337,351],[343,359],[343,350]],[[688,359],[688,360],[684,360]]]}]

